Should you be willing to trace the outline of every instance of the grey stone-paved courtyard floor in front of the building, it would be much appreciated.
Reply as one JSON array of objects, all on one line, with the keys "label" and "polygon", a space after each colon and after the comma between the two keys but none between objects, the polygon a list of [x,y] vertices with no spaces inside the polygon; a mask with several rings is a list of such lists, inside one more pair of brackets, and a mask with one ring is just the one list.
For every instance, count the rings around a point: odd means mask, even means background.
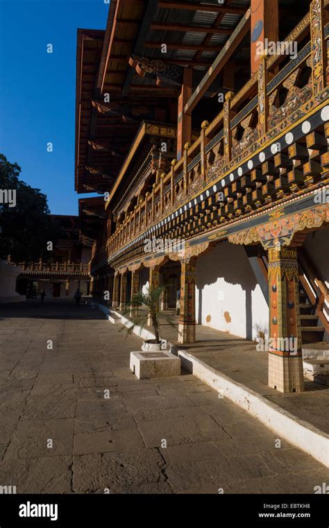
[{"label": "grey stone-paved courtyard floor in front of the building", "polygon": [[0,485],[314,493],[328,481],[324,466],[285,441],[277,449],[278,435],[193,375],[137,380],[129,352],[141,340],[120,328],[89,305],[0,307]]}]

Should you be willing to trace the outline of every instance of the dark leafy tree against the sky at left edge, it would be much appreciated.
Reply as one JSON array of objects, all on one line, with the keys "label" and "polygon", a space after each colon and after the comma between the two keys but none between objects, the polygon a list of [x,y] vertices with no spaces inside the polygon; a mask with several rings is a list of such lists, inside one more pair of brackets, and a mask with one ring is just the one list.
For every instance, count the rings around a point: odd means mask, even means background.
[{"label": "dark leafy tree against the sky at left edge", "polygon": [[[20,172],[17,163],[10,163],[0,154],[0,259],[8,255],[12,262],[49,259],[47,241],[54,241],[56,233],[47,196],[19,180]],[[7,196],[15,200],[8,203]]]}]

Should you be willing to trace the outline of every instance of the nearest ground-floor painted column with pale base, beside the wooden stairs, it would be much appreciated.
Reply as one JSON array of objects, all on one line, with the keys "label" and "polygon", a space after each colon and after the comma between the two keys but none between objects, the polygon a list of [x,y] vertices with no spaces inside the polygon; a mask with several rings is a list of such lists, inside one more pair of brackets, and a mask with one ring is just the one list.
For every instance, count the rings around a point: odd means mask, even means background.
[{"label": "nearest ground-floor painted column with pale base, beside the wooden stairs", "polygon": [[269,386],[304,390],[296,248],[269,249]]}]

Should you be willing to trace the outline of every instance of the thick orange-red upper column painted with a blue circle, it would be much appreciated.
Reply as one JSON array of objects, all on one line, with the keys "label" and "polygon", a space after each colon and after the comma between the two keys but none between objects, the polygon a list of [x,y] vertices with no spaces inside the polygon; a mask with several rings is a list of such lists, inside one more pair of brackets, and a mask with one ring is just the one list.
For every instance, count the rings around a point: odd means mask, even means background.
[{"label": "thick orange-red upper column painted with a blue circle", "polygon": [[257,74],[268,42],[278,40],[278,0],[251,0],[251,76]]}]

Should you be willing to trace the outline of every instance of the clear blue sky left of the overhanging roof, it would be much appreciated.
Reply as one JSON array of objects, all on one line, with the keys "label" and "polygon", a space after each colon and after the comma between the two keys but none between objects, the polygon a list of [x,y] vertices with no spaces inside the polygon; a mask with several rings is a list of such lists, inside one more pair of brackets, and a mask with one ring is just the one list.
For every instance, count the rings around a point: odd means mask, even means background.
[{"label": "clear blue sky left of the overhanging roof", "polygon": [[53,214],[78,214],[85,196],[74,191],[76,30],[107,17],[103,0],[0,0],[0,152]]}]

